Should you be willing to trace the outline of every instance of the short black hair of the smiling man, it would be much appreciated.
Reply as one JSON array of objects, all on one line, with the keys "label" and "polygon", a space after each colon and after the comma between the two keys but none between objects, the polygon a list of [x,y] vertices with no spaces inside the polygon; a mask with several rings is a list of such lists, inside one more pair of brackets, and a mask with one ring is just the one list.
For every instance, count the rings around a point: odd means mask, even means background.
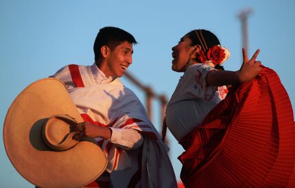
[{"label": "short black hair of the smiling man", "polygon": [[95,61],[101,56],[100,49],[102,46],[106,45],[113,51],[116,46],[124,41],[137,44],[137,41],[130,33],[118,27],[103,27],[99,29],[93,45]]}]

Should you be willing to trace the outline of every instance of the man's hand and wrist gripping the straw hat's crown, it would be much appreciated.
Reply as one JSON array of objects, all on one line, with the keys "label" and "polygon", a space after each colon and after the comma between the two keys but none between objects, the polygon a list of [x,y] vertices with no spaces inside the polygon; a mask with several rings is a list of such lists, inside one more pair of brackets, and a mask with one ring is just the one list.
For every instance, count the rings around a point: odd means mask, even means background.
[{"label": "man's hand and wrist gripping the straw hat's crown", "polygon": [[97,126],[90,122],[81,122],[72,125],[71,132],[79,132],[73,136],[73,139],[80,139],[82,137],[102,137],[103,139],[110,139],[110,136],[112,135],[111,129]]}]

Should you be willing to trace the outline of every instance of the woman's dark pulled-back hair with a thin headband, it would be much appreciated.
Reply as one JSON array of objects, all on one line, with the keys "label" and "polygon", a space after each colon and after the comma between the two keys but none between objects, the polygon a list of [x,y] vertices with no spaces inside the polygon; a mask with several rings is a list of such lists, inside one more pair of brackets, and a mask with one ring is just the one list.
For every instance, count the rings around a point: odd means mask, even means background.
[{"label": "woman's dark pulled-back hair with a thin headband", "polygon": [[[202,43],[204,44],[204,42],[200,41],[196,32],[198,32],[199,35],[200,33],[202,34],[202,36],[199,36],[199,37],[204,38],[204,41],[206,42],[208,49],[210,49],[213,46],[220,45],[220,40],[218,40],[217,36],[215,36],[215,34],[213,34],[211,31],[208,31],[205,29],[197,29],[197,30],[190,31],[189,33],[185,35],[191,39],[192,41],[191,46],[194,46],[194,45],[202,46]],[[205,49],[202,49],[202,50],[204,51]],[[215,66],[215,68],[219,70],[224,70],[223,66],[220,66],[220,65]]]}]

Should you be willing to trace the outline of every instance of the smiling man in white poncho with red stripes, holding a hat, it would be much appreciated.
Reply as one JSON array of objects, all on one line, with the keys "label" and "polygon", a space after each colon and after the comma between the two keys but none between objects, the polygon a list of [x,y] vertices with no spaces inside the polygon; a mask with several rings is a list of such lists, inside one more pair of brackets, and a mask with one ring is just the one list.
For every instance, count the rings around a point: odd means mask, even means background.
[{"label": "smiling man in white poncho with red stripes, holding a hat", "polygon": [[[94,43],[92,66],[69,65],[56,72],[84,123],[75,139],[93,137],[108,157],[106,172],[89,187],[176,187],[167,147],[137,96],[119,77],[132,64],[134,37],[104,27]],[[148,151],[148,152],[147,152]]]}]

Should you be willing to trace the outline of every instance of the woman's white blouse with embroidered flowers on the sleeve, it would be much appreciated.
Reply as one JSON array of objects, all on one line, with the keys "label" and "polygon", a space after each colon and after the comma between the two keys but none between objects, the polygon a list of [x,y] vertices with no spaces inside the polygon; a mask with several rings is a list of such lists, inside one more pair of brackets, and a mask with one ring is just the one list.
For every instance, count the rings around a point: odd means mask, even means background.
[{"label": "woman's white blouse with embroidered flowers on the sleeve", "polygon": [[215,68],[207,64],[193,64],[180,78],[166,109],[166,124],[180,141],[202,123],[205,116],[227,93],[226,86],[207,87],[207,73]]}]

